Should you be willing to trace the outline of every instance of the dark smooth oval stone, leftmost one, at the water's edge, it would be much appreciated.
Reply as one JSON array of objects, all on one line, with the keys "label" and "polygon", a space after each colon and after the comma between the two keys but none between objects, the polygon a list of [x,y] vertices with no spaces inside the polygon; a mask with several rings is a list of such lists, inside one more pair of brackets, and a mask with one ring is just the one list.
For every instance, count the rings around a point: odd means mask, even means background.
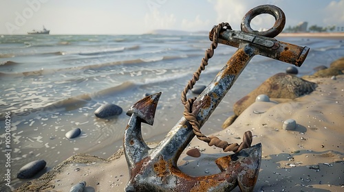
[{"label": "dark smooth oval stone, leftmost one, at the water's edge", "polygon": [[30,179],[36,175],[39,171],[44,169],[47,163],[45,160],[34,160],[19,169],[17,178],[19,179]]}]

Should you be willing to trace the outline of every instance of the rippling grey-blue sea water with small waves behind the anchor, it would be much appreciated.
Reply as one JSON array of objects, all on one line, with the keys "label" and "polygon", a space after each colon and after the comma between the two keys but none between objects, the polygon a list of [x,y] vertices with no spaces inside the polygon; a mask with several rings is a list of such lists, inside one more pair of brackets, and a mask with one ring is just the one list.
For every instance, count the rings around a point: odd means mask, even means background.
[{"label": "rippling grey-blue sea water with small waves behind the anchor", "polygon": [[[341,39],[277,39],[310,47],[298,76],[344,56]],[[208,36],[192,35],[0,36],[0,149],[6,149],[4,127],[10,112],[12,187],[25,182],[16,179],[17,171],[32,160],[47,162],[41,175],[74,154],[108,158],[120,149],[129,117],[123,112],[99,119],[94,110],[101,104],[127,111],[144,95],[161,91],[154,125],[142,125],[145,141],[160,141],[182,117],[180,93],[210,44]],[[197,85],[210,83],[236,49],[219,45]],[[289,66],[263,56],[252,58],[202,132],[221,130],[233,115],[235,101]],[[81,135],[65,138],[72,128],[80,128]],[[0,165],[5,164],[1,155]],[[1,177],[4,174],[1,171]],[[0,181],[1,191],[10,190],[5,183]]]}]

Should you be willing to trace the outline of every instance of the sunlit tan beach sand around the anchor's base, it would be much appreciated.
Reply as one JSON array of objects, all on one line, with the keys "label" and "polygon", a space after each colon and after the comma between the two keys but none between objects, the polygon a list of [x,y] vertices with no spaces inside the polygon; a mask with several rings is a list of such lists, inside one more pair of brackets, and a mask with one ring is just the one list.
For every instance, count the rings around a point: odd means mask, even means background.
[{"label": "sunlit tan beach sand around the anchor's base", "polygon": [[[318,84],[309,95],[256,101],[232,125],[213,134],[229,143],[239,143],[244,132],[251,130],[252,145],[263,145],[255,191],[344,190],[344,75],[337,75],[336,80],[330,77],[307,80]],[[296,120],[297,128],[283,130],[286,119]],[[194,147],[200,149],[200,158],[186,155]],[[178,165],[191,176],[219,173],[214,160],[227,154],[193,139]],[[87,182],[84,191],[123,191],[128,177],[121,150],[108,159],[77,154],[17,191],[69,191],[83,180]]]}]

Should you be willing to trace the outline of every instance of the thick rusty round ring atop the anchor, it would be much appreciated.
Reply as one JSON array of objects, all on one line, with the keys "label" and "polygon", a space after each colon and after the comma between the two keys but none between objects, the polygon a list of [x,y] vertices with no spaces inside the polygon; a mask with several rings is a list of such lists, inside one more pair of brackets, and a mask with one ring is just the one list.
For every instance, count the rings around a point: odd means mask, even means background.
[{"label": "thick rusty round ring atop the anchor", "polygon": [[[276,20],[274,26],[263,32],[253,30],[250,26],[250,22],[253,18],[255,18],[255,16],[258,16],[259,14],[271,14],[272,16],[274,16]],[[275,5],[260,5],[245,14],[244,18],[241,20],[241,31],[250,34],[257,34],[259,36],[274,38],[282,32],[285,24],[286,15],[280,8],[276,7]]]}]

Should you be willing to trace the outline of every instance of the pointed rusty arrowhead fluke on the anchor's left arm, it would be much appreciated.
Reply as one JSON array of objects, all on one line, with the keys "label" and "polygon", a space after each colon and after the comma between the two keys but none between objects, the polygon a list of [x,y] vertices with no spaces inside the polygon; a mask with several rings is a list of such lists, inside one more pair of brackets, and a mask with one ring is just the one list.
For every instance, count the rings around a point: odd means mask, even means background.
[{"label": "pointed rusty arrowhead fluke on the anchor's left arm", "polygon": [[142,123],[153,125],[155,109],[158,105],[160,95],[161,92],[144,97],[140,101],[136,102],[136,104],[131,106],[127,112],[127,115],[131,116],[133,113],[135,113],[137,117],[140,117]]}]

